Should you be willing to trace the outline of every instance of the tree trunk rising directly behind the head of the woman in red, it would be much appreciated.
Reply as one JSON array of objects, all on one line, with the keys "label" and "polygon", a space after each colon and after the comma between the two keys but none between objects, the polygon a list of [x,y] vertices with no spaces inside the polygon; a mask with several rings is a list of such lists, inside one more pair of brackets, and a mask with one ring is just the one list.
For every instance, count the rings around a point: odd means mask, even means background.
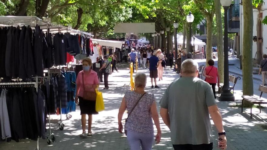
[{"label": "tree trunk rising directly behind the head of the woman in red", "polygon": [[206,48],[206,65],[208,66],[208,60],[212,59],[212,21],[213,16],[206,16],[207,20],[207,48]]}]

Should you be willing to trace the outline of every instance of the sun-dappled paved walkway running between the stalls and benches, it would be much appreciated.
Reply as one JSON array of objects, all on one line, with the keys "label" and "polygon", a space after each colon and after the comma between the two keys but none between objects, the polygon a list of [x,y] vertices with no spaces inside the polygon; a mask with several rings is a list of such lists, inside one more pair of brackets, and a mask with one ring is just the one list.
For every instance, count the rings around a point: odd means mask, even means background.
[{"label": "sun-dappled paved walkway running between the stalls and benches", "polygon": [[[130,74],[129,69],[127,69],[126,64],[118,64],[119,73],[113,73],[109,80],[110,89],[103,92],[103,97],[105,101],[105,111],[100,112],[99,115],[93,116],[93,137],[87,139],[79,138],[81,134],[81,119],[79,107],[76,112],[72,112],[72,118],[70,120],[63,120],[66,124],[63,131],[58,128],[59,116],[52,115],[52,132],[56,136],[56,142],[48,145],[46,140],[40,139],[40,148],[42,150],[77,150],[77,149],[92,149],[92,150],[128,150],[129,146],[127,144],[126,138],[120,138],[121,134],[117,131],[117,113],[120,106],[121,99],[125,91],[130,90],[129,80]],[[122,69],[123,68],[123,69]],[[149,74],[148,69],[140,69],[140,72],[145,72]],[[176,78],[178,75],[168,67],[164,72],[164,80],[158,82],[161,88],[152,89],[150,88],[150,78],[147,82],[147,92],[153,93],[155,95],[156,101],[159,102],[164,90],[167,86]],[[259,82],[254,83],[254,91],[257,91],[257,86]],[[103,88],[103,84],[100,86]],[[259,113],[257,108],[253,108],[253,118],[250,119],[248,115],[249,109],[246,110],[247,113],[241,113],[241,108],[232,107],[231,105],[236,105],[240,103],[240,94],[242,94],[242,80],[238,81],[235,90],[236,102],[218,102],[218,107],[222,113],[225,130],[228,138],[228,149],[229,150],[265,150],[267,147],[266,138],[267,131],[264,131],[260,125],[265,124],[267,119],[267,109],[262,109],[262,113]],[[255,92],[259,95],[259,92]],[[264,95],[267,97],[267,94]],[[159,110],[159,106],[158,106]],[[124,114],[123,118],[126,118],[127,114]],[[63,116],[63,119],[66,119]],[[154,145],[154,150],[166,150],[172,149],[170,131],[164,125],[162,119],[161,129],[162,129],[162,140],[160,144]],[[48,128],[48,126],[47,126]],[[214,135],[217,138],[217,131],[214,127]],[[47,132],[49,133],[49,132]],[[155,133],[156,134],[156,133]],[[216,142],[214,142],[214,149],[216,148]],[[33,150],[36,147],[36,141],[32,140],[21,140],[21,142],[2,142],[0,143],[0,150]]]}]

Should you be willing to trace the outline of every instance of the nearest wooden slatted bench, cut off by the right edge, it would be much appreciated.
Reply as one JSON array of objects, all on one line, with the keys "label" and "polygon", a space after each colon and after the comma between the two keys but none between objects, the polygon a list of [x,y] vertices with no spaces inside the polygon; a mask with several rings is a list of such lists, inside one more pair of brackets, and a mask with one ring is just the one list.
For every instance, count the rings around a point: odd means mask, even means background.
[{"label": "nearest wooden slatted bench, cut off by the right edge", "polygon": [[242,96],[243,99],[242,99],[242,105],[241,105],[241,107],[242,107],[241,108],[241,112],[243,113],[243,103],[244,103],[244,100],[247,101],[247,102],[249,102],[251,104],[251,106],[250,106],[250,118],[252,118],[252,106],[254,104],[259,104],[259,106],[260,106],[260,113],[262,112],[262,110],[261,110],[261,104],[267,104],[267,101],[261,99],[262,93],[263,92],[264,93],[267,93],[267,87],[266,86],[263,86],[263,85],[260,85],[259,86],[259,91],[261,91],[260,97],[259,96],[256,96],[256,95],[254,95],[254,96],[243,95]]}]

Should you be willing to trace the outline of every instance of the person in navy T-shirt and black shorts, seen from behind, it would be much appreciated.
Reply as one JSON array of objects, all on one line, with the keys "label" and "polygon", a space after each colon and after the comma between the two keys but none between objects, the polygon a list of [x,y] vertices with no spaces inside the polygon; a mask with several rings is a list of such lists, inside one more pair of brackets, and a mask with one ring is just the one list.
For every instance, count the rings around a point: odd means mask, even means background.
[{"label": "person in navy T-shirt and black shorts, seen from behind", "polygon": [[158,70],[157,68],[161,65],[159,58],[157,57],[157,51],[154,51],[153,55],[150,57],[149,66],[149,77],[151,79],[151,88],[154,88],[153,80],[155,82],[155,88],[159,88],[157,85]]}]

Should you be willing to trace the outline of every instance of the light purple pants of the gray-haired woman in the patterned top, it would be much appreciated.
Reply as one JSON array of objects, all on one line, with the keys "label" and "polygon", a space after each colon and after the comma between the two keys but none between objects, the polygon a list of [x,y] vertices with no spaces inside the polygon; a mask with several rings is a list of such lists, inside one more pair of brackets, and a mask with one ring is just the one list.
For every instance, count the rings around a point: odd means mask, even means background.
[{"label": "light purple pants of the gray-haired woman in the patterned top", "polygon": [[154,133],[136,133],[127,131],[127,140],[131,150],[152,150],[152,144],[154,141]]}]

